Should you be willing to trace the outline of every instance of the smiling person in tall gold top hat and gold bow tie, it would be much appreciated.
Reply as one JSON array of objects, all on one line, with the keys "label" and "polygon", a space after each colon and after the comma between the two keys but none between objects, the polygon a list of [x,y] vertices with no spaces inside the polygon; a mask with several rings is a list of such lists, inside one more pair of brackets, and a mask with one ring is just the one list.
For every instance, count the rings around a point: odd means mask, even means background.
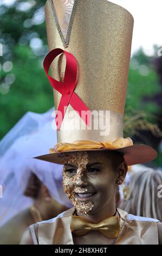
[{"label": "smiling person in tall gold top hat and gold bow tie", "polygon": [[50,0],[46,26],[44,70],[54,88],[58,143],[36,158],[63,164],[74,208],[31,225],[21,244],[162,243],[158,220],[116,208],[128,166],[157,157],[150,146],[123,137],[132,15],[105,0]]}]

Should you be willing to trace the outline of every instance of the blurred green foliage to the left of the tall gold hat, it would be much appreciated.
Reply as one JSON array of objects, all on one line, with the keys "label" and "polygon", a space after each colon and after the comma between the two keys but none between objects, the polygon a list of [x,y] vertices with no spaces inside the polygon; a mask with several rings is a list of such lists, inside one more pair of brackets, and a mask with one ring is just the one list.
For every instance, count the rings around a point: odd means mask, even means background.
[{"label": "blurred green foliage to the left of the tall gold hat", "polygon": [[[32,1],[20,2],[32,3]],[[0,43],[3,45],[0,63],[2,66],[7,61],[13,64],[9,72],[1,69],[0,138],[27,111],[43,113],[54,105],[53,90],[49,86],[42,66],[43,58],[48,51],[43,17],[45,1],[35,1],[34,6],[28,11],[25,11],[26,5],[24,11],[18,10],[20,2],[16,1],[11,6],[0,5]],[[27,21],[29,28],[24,27]],[[36,48],[33,45],[32,48],[31,40],[37,38],[42,42],[42,46]],[[15,82],[10,84],[9,89],[5,81],[8,74],[15,76]]]}]

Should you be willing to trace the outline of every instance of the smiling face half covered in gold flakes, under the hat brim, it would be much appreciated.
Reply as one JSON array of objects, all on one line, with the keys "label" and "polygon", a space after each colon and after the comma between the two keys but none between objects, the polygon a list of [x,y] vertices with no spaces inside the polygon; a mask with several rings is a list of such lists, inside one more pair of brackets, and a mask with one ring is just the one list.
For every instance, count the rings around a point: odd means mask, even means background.
[{"label": "smiling face half covered in gold flakes, under the hat brim", "polygon": [[63,187],[77,212],[95,215],[115,202],[117,182],[127,170],[123,160],[112,151],[63,153]]}]

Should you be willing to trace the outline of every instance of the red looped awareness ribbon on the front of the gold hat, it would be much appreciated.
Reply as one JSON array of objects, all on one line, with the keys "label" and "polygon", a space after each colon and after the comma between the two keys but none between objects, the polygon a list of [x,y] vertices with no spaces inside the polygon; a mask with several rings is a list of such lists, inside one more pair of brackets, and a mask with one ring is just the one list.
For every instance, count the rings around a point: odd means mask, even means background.
[{"label": "red looped awareness ribbon on the front of the gold hat", "polygon": [[[53,60],[61,53],[64,53],[66,56],[66,70],[64,73],[64,81],[63,83],[55,80],[51,76],[49,76],[49,68]],[[66,112],[66,109],[68,105],[70,104],[74,110],[79,113],[80,117],[85,121],[86,125],[89,125],[89,117],[86,118],[85,114],[82,114],[83,111],[89,111],[85,103],[80,99],[79,96],[74,92],[74,89],[76,87],[76,75],[77,75],[77,61],[75,57],[61,48],[56,48],[52,51],[50,51],[43,62],[44,70],[46,72],[46,75],[48,76],[48,79],[50,81],[51,86],[57,90],[59,93],[61,93],[61,100],[59,103],[59,107],[57,111],[61,111],[62,113],[62,120],[64,118],[64,114]],[[56,118],[58,117],[58,114],[56,113]],[[56,122],[57,130],[60,130],[61,122]]]}]

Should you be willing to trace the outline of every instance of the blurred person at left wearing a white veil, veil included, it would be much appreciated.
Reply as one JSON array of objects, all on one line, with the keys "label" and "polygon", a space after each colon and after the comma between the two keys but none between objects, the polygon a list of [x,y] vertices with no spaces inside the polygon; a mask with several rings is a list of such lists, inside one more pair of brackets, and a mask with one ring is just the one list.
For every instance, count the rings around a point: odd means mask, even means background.
[{"label": "blurred person at left wearing a white veil, veil included", "polygon": [[51,111],[25,116],[0,142],[1,245],[18,244],[30,224],[48,220],[71,206],[62,188],[62,166],[31,159],[44,151],[44,145],[56,141]]}]

